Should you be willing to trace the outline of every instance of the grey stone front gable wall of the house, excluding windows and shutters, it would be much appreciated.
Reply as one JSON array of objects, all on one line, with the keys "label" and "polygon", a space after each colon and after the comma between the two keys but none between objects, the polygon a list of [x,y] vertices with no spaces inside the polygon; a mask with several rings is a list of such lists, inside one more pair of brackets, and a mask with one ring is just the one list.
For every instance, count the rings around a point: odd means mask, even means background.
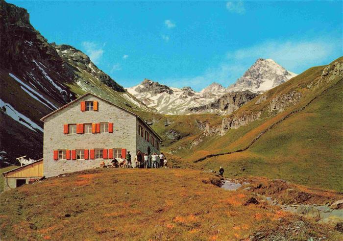
[{"label": "grey stone front gable wall of the house, excluding windows and shutters", "polygon": [[[97,100],[98,111],[80,110],[81,101]],[[53,160],[53,150],[125,148],[136,153],[137,118],[96,96],[88,95],[44,120],[44,175],[99,167],[103,159]],[[63,134],[63,124],[113,122],[113,133]],[[109,163],[111,160],[105,160]]]}]

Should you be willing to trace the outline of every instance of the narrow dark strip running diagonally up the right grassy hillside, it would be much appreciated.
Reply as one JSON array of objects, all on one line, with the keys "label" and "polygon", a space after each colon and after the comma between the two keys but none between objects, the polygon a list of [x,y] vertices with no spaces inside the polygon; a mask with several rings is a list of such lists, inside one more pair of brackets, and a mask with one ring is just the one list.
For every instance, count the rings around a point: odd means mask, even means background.
[{"label": "narrow dark strip running diagonally up the right grassy hillside", "polygon": [[265,129],[264,131],[262,131],[260,134],[258,134],[250,143],[249,145],[245,146],[244,148],[242,149],[239,149],[239,150],[235,150],[235,151],[229,151],[229,152],[223,152],[223,153],[217,153],[217,154],[210,154],[210,155],[207,155],[205,157],[202,157],[200,159],[197,159],[194,161],[194,163],[198,163],[198,162],[202,162],[208,158],[211,158],[211,157],[216,157],[216,156],[223,156],[223,155],[229,155],[229,154],[232,154],[232,153],[236,153],[236,152],[242,152],[242,151],[245,151],[247,150],[251,145],[253,145],[258,139],[260,139],[263,134],[265,134],[267,131],[269,131],[270,129],[272,129],[275,125],[281,123],[282,121],[286,120],[287,118],[293,116],[294,114],[296,113],[299,113],[303,110],[306,109],[307,106],[309,106],[314,100],[316,100],[319,96],[322,96],[323,94],[325,94],[328,90],[330,90],[331,88],[335,87],[336,85],[338,85],[340,82],[342,81],[339,80],[337,81],[335,84],[333,84],[332,86],[330,86],[329,88],[325,89],[323,92],[321,92],[318,96],[315,96],[313,99],[310,100],[310,102],[308,102],[306,105],[304,105],[303,107],[300,107],[292,112],[290,112],[289,114],[287,114],[286,116],[284,116],[282,119],[276,121],[275,123],[273,123],[272,125],[270,125],[267,129]]}]

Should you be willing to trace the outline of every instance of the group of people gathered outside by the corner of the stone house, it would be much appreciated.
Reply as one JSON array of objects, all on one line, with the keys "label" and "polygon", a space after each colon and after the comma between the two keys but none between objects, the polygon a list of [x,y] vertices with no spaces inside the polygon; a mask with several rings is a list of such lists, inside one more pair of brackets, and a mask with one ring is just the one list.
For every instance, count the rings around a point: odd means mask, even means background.
[{"label": "group of people gathered outside by the corner of the stone house", "polygon": [[131,154],[128,151],[126,154],[126,157],[123,158],[121,156],[120,158],[115,158],[111,161],[111,165],[108,164],[107,166],[105,165],[105,162],[102,161],[100,163],[100,167],[114,167],[114,168],[168,168],[167,164],[167,158],[161,152],[160,155],[158,155],[156,152],[152,153],[151,155],[148,153],[145,153],[142,155],[142,152],[140,150],[137,151],[137,156],[135,157],[134,160],[135,165],[132,165],[132,160],[131,160]]}]

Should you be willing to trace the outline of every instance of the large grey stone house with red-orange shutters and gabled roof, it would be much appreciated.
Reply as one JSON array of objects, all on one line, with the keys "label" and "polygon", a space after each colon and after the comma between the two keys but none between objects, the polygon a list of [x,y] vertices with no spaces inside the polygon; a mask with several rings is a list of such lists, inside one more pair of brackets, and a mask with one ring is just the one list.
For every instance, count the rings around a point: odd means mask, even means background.
[{"label": "large grey stone house with red-orange shutters and gabled roof", "polygon": [[138,150],[159,153],[161,137],[136,114],[87,93],[41,119],[44,175],[99,167]]}]

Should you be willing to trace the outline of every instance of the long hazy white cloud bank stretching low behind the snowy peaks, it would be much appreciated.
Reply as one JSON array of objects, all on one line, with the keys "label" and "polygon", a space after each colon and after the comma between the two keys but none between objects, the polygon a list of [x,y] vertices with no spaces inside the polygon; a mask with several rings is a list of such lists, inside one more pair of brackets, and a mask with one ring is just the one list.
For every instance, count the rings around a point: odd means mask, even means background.
[{"label": "long hazy white cloud bank stretching low behind the snowy peaks", "polygon": [[163,83],[178,88],[191,86],[197,91],[212,82],[227,87],[241,77],[258,58],[271,58],[286,70],[301,73],[342,56],[342,45],[340,39],[324,37],[312,40],[272,40],[228,52],[217,66],[199,75],[165,79]]}]

